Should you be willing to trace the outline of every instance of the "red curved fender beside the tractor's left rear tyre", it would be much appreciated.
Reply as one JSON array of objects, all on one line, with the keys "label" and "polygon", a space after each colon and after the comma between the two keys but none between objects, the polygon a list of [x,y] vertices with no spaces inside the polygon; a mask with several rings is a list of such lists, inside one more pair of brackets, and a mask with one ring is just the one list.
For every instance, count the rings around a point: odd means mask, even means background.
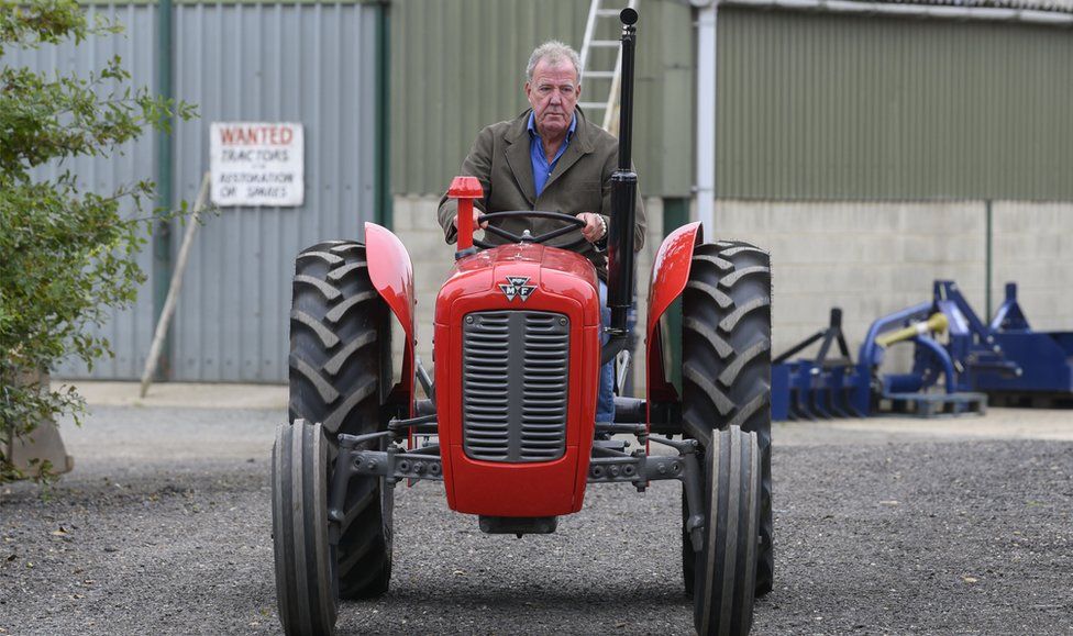
[{"label": "red curved fender beside the tractor's left rear tyre", "polygon": [[365,223],[365,258],[368,259],[369,278],[384,302],[391,308],[406,333],[402,347],[402,392],[409,401],[413,416],[413,266],[410,255],[399,237],[390,230],[375,223]]}]

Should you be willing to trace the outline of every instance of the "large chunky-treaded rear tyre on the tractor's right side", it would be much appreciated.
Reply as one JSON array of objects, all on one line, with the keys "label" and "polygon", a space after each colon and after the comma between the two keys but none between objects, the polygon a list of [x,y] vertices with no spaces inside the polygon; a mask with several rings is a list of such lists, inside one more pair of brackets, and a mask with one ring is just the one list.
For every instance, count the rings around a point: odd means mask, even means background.
[{"label": "large chunky-treaded rear tyre on the tractor's right side", "polygon": [[[743,242],[698,245],[682,304],[682,416],[707,445],[715,429],[756,433],[762,470],[756,595],[774,587],[771,478],[771,258]],[[693,557],[683,537],[683,574]],[[686,583],[689,592],[689,583]]]}]

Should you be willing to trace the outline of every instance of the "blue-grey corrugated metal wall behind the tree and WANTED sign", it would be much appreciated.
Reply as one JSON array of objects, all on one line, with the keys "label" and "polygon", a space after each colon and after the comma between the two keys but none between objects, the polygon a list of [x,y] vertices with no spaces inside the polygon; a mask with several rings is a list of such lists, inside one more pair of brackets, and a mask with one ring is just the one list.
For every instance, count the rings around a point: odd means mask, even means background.
[{"label": "blue-grey corrugated metal wall behind the tree and WANTED sign", "polygon": [[[11,59],[88,72],[119,54],[134,82],[152,88],[155,9],[87,10],[114,14],[126,26],[125,38],[90,38],[77,48],[45,47]],[[226,208],[207,217],[173,321],[174,379],[286,381],[295,255],[321,239],[361,237],[364,221],[374,219],[374,11],[352,2],[176,5],[175,96],[200,111],[175,129],[176,199],[192,204],[209,169],[209,125],[215,121],[301,122],[306,193],[301,208]],[[125,157],[78,161],[74,169],[101,191],[154,179],[153,140],[147,133]],[[182,234],[176,230],[173,257]],[[150,264],[143,253],[146,272]],[[65,365],[56,375],[139,378],[155,326],[152,289],[152,281],[143,286],[133,311],[106,327],[115,360],[102,360],[92,373]]]}]

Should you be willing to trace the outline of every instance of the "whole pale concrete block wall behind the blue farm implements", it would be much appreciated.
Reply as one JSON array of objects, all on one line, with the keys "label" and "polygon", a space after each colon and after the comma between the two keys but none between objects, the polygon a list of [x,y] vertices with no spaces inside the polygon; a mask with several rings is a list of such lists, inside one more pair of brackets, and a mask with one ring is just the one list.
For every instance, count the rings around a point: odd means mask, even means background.
[{"label": "whole pale concrete block wall behind the blue farm implements", "polygon": [[[776,355],[841,306],[855,359],[872,321],[929,300],[936,279],[955,280],[989,320],[986,219],[983,201],[720,201],[714,235],[771,252]],[[995,202],[993,220],[992,311],[1013,280],[1033,328],[1073,331],[1073,204]],[[908,356],[891,362],[904,368]]]}]

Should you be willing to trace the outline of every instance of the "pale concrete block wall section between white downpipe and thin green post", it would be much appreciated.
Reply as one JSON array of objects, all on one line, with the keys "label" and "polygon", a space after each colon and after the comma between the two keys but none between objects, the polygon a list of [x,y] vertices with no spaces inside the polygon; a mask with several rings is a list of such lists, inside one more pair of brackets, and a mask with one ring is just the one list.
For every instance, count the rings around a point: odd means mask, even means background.
[{"label": "pale concrete block wall section between white downpipe and thin green post", "polygon": [[720,201],[716,232],[772,255],[773,350],[779,354],[842,309],[851,354],[876,317],[931,297],[951,278],[984,299],[986,222],[980,205]]}]

